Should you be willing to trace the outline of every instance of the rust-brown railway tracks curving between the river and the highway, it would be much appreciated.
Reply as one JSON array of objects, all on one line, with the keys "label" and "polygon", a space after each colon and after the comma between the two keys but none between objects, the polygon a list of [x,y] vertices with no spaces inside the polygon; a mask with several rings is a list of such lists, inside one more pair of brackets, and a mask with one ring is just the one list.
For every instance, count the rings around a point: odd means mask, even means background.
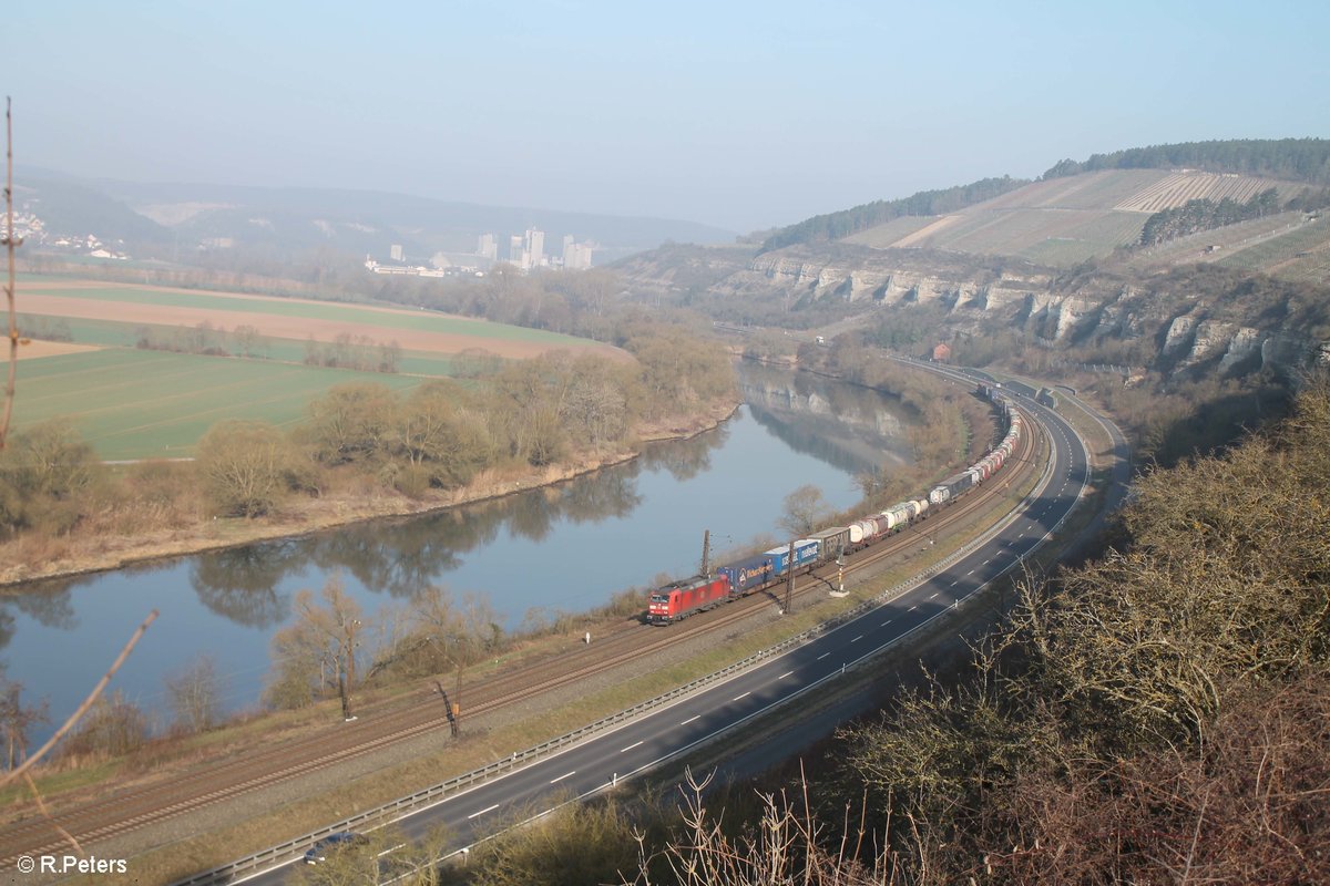
[{"label": "rust-brown railway tracks curving between the river and the highway", "polygon": [[[883,561],[918,546],[920,538],[946,533],[948,527],[990,507],[1012,482],[1035,466],[1043,429],[1036,422],[1028,421],[1028,416],[1025,426],[1035,433],[1025,434],[1021,441],[1019,456],[1012,460],[1016,470],[1011,472],[1008,482],[986,484],[978,493],[966,495],[956,505],[946,507],[923,523],[849,557],[846,574],[879,566]],[[927,530],[920,531],[923,527]],[[826,592],[835,580],[835,574],[834,566],[823,566],[801,576],[794,600]],[[467,687],[467,707],[463,713],[475,717],[567,687],[591,675],[658,652],[682,636],[725,632],[759,607],[770,604],[770,596],[758,592],[665,628],[629,620],[616,623],[608,632],[598,635],[596,643],[589,647],[577,647],[569,654],[529,662],[472,683]],[[118,790],[86,804],[57,810],[52,817],[60,828],[86,845],[196,812],[258,788],[327,769],[395,743],[438,732],[446,725],[442,700],[432,689],[422,689],[399,700],[396,707],[367,712],[354,723],[321,729],[172,780]],[[0,826],[0,865],[9,866],[21,854],[40,855],[68,850],[68,840],[47,818],[33,817]]]}]

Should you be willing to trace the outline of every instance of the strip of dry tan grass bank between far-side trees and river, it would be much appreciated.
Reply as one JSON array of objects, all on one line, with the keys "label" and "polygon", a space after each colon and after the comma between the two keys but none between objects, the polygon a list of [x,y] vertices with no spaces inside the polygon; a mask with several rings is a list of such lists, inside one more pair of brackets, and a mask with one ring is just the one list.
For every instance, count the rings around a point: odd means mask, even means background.
[{"label": "strip of dry tan grass bank between far-side trees and river", "polygon": [[25,553],[25,539],[20,537],[0,545],[0,563],[7,563],[0,566],[0,594],[17,591],[23,584],[40,579],[84,575],[251,542],[294,538],[364,521],[415,517],[553,486],[632,461],[641,456],[646,444],[689,440],[712,430],[733,416],[739,405],[738,400],[713,402],[686,418],[641,425],[636,429],[637,445],[632,448],[540,469],[487,469],[467,486],[431,490],[418,498],[390,489],[351,487],[319,498],[293,499],[281,513],[257,519],[213,518],[134,535],[73,535],[61,539],[57,555],[40,562],[32,562],[35,558]]}]

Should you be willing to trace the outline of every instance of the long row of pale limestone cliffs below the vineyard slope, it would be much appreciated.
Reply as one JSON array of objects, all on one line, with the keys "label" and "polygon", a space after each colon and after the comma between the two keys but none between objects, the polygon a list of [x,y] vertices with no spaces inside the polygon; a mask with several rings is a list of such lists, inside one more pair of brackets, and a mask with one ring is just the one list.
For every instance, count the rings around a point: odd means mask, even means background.
[{"label": "long row of pale limestone cliffs below the vineyard slope", "polygon": [[[665,267],[644,267],[637,276],[625,275],[632,288],[682,288],[665,278]],[[696,271],[689,267],[690,274]],[[787,307],[818,300],[853,303],[864,312],[934,306],[946,312],[939,336],[1011,328],[1053,351],[1134,341],[1140,344],[1133,351],[1148,368],[1161,372],[1274,369],[1295,376],[1309,364],[1330,365],[1330,341],[1278,321],[1256,320],[1241,294],[1169,280],[1123,283],[1093,274],[1068,282],[1065,274],[1009,258],[843,243],[761,255],[732,250],[718,254],[713,276],[702,286],[720,298],[783,298]]]}]

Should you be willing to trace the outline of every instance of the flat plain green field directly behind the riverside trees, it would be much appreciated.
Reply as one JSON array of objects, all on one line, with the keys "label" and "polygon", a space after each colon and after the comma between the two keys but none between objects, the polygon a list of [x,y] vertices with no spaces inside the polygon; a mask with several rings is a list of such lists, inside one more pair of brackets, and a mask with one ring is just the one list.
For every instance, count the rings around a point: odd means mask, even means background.
[{"label": "flat plain green field directly behind the riverside trees", "polygon": [[225,418],[298,422],[310,401],[348,381],[406,391],[412,376],[321,369],[273,360],[108,348],[20,360],[15,428],[66,417],[105,460],[192,456]]}]

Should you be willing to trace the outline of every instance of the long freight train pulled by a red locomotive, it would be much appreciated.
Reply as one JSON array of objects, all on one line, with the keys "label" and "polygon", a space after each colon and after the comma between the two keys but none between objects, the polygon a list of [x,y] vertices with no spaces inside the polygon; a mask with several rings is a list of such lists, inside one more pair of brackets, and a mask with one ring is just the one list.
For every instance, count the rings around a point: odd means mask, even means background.
[{"label": "long freight train pulled by a red locomotive", "polygon": [[1023,433],[1023,421],[1001,385],[979,385],[976,393],[990,400],[1005,422],[1005,436],[983,458],[966,470],[948,477],[927,495],[907,499],[891,507],[868,514],[849,526],[833,526],[797,539],[793,545],[773,547],[734,563],[718,566],[706,575],[670,582],[650,594],[646,620],[650,624],[669,624],[696,612],[704,612],[721,603],[766,590],[795,574],[841,559],[846,554],[863,550],[894,535],[931,511],[950,505],[971,489],[1000,472],[1016,450]]}]

